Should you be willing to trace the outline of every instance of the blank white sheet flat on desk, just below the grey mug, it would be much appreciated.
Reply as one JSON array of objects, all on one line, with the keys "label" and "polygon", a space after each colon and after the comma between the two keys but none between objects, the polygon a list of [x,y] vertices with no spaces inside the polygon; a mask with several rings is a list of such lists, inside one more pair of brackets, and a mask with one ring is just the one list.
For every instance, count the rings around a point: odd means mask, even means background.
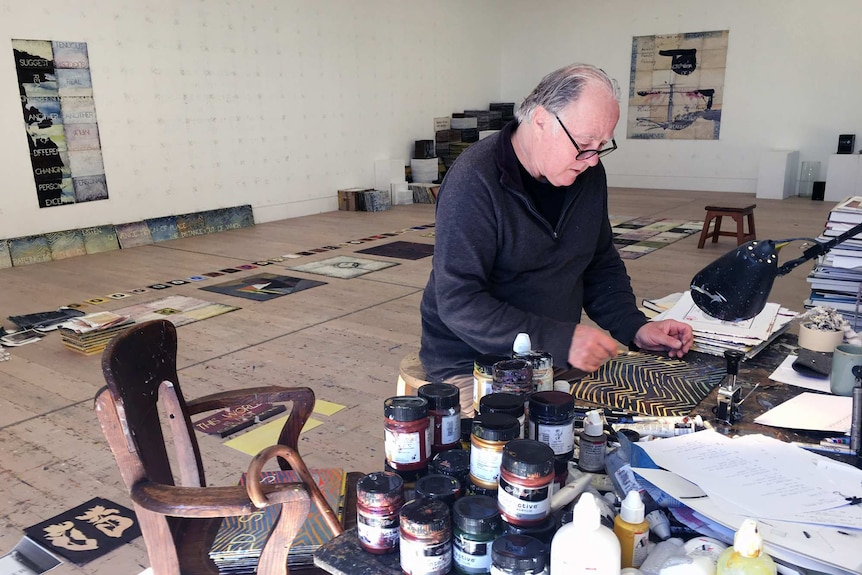
[{"label": "blank white sheet flat on desk, just below the grey mug", "polygon": [[803,392],[757,417],[754,422],[770,427],[850,433],[853,398]]}]

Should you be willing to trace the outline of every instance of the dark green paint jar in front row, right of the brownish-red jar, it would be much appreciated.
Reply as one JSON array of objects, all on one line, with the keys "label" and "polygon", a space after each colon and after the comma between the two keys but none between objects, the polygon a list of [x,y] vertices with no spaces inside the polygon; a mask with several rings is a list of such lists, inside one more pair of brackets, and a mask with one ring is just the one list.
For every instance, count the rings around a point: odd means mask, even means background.
[{"label": "dark green paint jar in front row, right of the brownish-red jar", "polygon": [[497,501],[468,495],[452,507],[452,563],[455,573],[478,575],[491,569],[491,545],[503,534]]}]

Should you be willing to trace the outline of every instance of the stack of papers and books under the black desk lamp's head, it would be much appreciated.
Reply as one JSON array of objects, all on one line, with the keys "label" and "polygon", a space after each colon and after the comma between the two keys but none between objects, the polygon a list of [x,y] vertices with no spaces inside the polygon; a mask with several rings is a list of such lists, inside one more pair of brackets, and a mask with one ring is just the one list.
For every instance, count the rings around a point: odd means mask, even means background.
[{"label": "stack of papers and books under the black desk lamp's head", "polygon": [[702,312],[691,299],[691,292],[670,294],[642,304],[650,321],[675,319],[691,326],[694,344],[691,350],[710,355],[724,355],[729,349],[741,351],[747,359],[760,353],[775,338],[787,331],[797,313],[767,303],[759,314],[741,321],[722,321]]}]

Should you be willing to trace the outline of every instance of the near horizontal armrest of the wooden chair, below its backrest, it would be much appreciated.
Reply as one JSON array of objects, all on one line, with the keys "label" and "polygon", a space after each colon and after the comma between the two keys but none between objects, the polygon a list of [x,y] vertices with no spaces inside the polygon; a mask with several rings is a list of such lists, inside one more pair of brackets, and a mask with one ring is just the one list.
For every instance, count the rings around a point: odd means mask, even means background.
[{"label": "near horizontal armrest of the wooden chair, below its backrest", "polygon": [[[260,485],[258,481],[251,483]],[[275,483],[260,486],[265,505],[280,505],[308,500],[301,483]],[[176,487],[142,482],[132,487],[131,498],[148,511],[171,517],[212,518],[250,515],[260,511],[248,497],[243,485],[229,487]]]}]

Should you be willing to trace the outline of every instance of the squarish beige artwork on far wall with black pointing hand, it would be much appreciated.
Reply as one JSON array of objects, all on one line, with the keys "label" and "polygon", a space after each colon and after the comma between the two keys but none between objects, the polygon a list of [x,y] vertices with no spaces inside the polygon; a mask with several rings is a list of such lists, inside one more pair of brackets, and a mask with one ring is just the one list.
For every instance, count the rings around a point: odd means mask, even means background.
[{"label": "squarish beige artwork on far wall with black pointing hand", "polygon": [[728,31],[635,36],[628,137],[717,140]]}]

